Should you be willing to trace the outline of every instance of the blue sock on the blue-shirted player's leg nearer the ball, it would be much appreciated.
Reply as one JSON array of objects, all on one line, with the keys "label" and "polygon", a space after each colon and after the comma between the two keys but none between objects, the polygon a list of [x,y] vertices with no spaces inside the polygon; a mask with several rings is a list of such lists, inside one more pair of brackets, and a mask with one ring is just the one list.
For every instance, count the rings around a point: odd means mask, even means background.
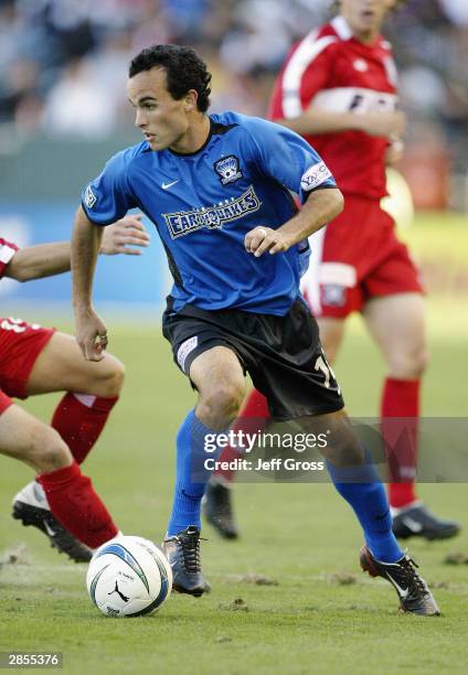
[{"label": "blue sock on the blue-shirted player's leg nearer the ball", "polygon": [[204,461],[216,457],[216,452],[208,453],[204,449],[208,433],[213,438],[219,431],[205,427],[191,410],[177,435],[176,490],[168,536],[189,525],[201,529],[201,502],[212,474],[204,468]]}]

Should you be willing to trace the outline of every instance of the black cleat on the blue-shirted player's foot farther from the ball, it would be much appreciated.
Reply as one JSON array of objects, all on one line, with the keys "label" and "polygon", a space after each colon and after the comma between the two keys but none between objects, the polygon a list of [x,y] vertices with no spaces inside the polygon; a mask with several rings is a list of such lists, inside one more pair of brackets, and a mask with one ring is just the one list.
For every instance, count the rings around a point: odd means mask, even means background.
[{"label": "black cleat on the blue-shirted player's foot farther from the ball", "polygon": [[402,612],[422,617],[438,617],[440,610],[427,588],[425,580],[416,571],[416,562],[406,554],[396,562],[376,560],[369,548],[363,546],[360,555],[361,567],[371,577],[382,577],[392,583],[400,598]]}]

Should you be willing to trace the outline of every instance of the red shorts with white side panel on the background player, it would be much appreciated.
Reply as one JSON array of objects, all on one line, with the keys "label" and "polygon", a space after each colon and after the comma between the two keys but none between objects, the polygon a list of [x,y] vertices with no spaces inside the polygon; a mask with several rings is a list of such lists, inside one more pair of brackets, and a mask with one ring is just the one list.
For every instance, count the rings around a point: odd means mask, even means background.
[{"label": "red shorts with white side panel on the background player", "polygon": [[371,298],[418,292],[419,272],[379,202],[347,196],[344,211],[310,237],[301,290],[316,317],[344,319]]}]

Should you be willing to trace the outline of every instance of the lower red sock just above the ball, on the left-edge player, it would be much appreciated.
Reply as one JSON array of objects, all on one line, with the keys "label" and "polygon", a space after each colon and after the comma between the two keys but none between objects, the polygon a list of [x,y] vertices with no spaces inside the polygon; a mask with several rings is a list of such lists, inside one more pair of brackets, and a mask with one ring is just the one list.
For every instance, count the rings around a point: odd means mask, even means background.
[{"label": "lower red sock just above the ball, on the left-edge player", "polygon": [[42,473],[36,480],[44,489],[53,515],[86,546],[97,548],[116,536],[118,529],[107,508],[76,462]]}]

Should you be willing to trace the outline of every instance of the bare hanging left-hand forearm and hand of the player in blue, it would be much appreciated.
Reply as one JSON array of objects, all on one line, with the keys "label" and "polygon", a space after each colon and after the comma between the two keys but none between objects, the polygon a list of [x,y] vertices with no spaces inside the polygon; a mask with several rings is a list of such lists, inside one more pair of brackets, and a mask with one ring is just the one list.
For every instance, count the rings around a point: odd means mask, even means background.
[{"label": "bare hanging left-hand forearm and hand of the player in blue", "polygon": [[75,216],[72,236],[73,308],[76,342],[87,361],[104,358],[107,329],[93,308],[93,280],[103,237],[103,227],[92,223],[82,206]]}]

